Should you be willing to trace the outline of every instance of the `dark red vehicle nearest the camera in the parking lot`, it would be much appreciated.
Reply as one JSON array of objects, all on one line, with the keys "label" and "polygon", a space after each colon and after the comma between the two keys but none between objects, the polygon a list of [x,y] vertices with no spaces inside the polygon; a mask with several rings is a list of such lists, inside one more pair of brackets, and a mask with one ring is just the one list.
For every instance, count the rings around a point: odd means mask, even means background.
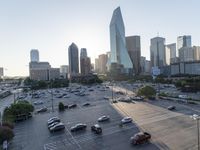
[{"label": "dark red vehicle nearest the camera in the parking lot", "polygon": [[148,142],[151,139],[151,135],[147,132],[139,132],[131,137],[131,143],[134,145]]}]

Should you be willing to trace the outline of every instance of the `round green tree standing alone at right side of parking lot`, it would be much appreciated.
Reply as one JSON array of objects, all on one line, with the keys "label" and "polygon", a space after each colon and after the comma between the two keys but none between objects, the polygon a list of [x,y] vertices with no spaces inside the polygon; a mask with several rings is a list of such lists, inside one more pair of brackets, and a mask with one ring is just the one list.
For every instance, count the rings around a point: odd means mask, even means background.
[{"label": "round green tree standing alone at right side of parking lot", "polygon": [[151,98],[156,95],[156,90],[151,86],[145,86],[139,89],[138,95],[145,96],[146,98]]}]

